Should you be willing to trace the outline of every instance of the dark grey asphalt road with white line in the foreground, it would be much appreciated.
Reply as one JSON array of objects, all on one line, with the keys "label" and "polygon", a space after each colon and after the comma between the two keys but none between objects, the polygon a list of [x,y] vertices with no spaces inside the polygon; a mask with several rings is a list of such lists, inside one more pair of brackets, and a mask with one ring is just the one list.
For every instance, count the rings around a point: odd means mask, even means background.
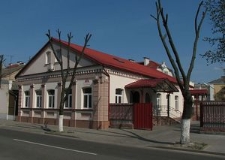
[{"label": "dark grey asphalt road with white line in the foreground", "polygon": [[124,147],[52,135],[0,129],[1,160],[219,160],[202,153]]}]

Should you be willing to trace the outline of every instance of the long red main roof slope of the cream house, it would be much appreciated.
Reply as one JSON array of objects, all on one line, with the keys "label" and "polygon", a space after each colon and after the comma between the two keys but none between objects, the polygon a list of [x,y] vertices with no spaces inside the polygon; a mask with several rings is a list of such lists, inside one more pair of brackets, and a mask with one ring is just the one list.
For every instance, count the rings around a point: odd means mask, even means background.
[{"label": "long red main roof slope of the cream house", "polygon": [[[54,42],[59,42],[59,40],[55,38],[53,38],[52,40]],[[68,45],[68,43],[65,41],[61,41],[61,42],[62,44],[66,46]],[[71,44],[70,47],[71,49],[79,53],[82,51],[82,48],[83,48],[83,46],[79,46],[76,44]],[[156,69],[150,68],[148,66],[140,65],[138,63],[131,62],[127,59],[123,59],[114,55],[96,51],[90,48],[85,49],[84,56],[103,66],[113,67],[120,70],[129,71],[132,73],[137,73],[137,74],[141,74],[151,78],[164,78],[164,79],[168,79],[169,81],[173,83],[177,82],[174,77],[166,75],[160,71],[157,71]]]}]

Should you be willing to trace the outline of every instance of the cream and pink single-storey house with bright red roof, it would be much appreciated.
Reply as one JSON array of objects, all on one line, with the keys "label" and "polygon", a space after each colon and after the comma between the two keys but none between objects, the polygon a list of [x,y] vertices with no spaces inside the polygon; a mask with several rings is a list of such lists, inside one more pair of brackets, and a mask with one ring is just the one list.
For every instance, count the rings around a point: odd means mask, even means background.
[{"label": "cream and pink single-storey house with bright red roof", "polygon": [[[57,51],[60,42],[52,39]],[[67,42],[62,41],[66,69]],[[71,44],[70,64],[80,56],[82,46]],[[159,116],[180,118],[183,97],[163,66],[149,67],[149,60],[137,63],[87,48],[76,71],[64,110],[64,125],[108,128],[111,103],[152,103]],[[164,72],[164,73],[163,73]],[[61,92],[60,66],[47,42],[16,76],[19,85],[18,121],[58,123]],[[67,84],[68,85],[68,84]],[[168,105],[169,103],[169,105]]]}]

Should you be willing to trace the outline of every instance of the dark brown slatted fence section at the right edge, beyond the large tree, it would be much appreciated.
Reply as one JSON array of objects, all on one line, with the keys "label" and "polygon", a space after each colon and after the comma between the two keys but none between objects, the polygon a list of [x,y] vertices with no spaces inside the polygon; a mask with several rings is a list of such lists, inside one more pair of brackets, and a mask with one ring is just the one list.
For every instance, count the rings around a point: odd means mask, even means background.
[{"label": "dark brown slatted fence section at the right edge, beyond the large tree", "polygon": [[202,102],[200,105],[200,127],[225,128],[225,102]]}]

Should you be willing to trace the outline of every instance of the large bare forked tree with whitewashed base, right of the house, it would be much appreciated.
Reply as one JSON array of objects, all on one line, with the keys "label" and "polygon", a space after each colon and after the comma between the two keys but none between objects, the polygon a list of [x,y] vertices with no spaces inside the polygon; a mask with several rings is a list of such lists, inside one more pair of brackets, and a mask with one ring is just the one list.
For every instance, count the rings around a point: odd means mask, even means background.
[{"label": "large bare forked tree with whitewashed base, right of the house", "polygon": [[[182,122],[181,122],[181,137],[180,137],[181,144],[188,144],[190,142],[190,120],[192,116],[193,100],[192,100],[191,93],[189,91],[189,84],[190,84],[191,73],[195,63],[200,29],[207,11],[207,9],[203,11],[200,21],[198,21],[199,12],[201,10],[202,4],[203,2],[199,4],[196,15],[195,15],[195,26],[194,26],[195,39],[193,44],[192,57],[191,57],[191,61],[190,61],[190,65],[189,65],[189,69],[187,73],[185,73],[183,69],[183,66],[180,61],[179,53],[176,49],[172,35],[170,33],[170,29],[168,26],[168,14],[165,15],[160,0],[156,2],[156,11],[157,11],[156,16],[151,15],[156,20],[159,37],[165,48],[165,51],[170,60],[170,63],[174,69],[177,83],[180,87],[180,90],[184,98],[184,106],[183,106],[183,114],[182,114]],[[162,28],[162,25],[163,25],[163,28]]]}]

